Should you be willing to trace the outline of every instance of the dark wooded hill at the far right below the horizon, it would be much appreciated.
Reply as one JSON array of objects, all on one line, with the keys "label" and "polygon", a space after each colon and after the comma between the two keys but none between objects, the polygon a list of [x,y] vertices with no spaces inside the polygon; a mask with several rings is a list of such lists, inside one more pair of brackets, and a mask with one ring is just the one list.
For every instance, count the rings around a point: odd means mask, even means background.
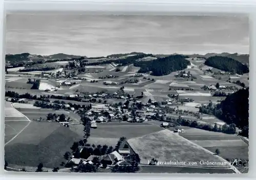
[{"label": "dark wooded hill at the far right below the horizon", "polygon": [[211,56],[206,59],[205,64],[222,71],[231,72],[233,74],[237,73],[242,75],[249,72],[249,68],[247,65],[244,65],[237,60],[224,56]]}]

